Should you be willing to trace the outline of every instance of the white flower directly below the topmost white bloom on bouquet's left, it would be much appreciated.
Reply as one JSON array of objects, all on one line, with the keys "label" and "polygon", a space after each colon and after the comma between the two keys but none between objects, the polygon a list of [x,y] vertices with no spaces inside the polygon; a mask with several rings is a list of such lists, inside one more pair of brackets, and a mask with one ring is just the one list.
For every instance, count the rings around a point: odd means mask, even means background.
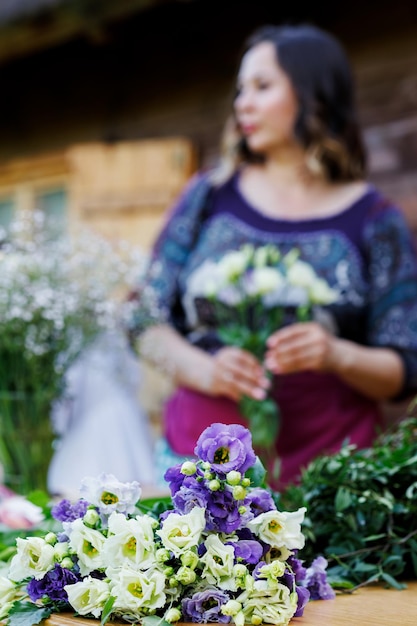
[{"label": "white flower directly below the topmost white bloom on bouquet's left", "polygon": [[82,576],[105,567],[103,558],[105,541],[106,538],[100,531],[86,526],[82,519],[78,518],[71,522],[69,545],[77,554]]}]

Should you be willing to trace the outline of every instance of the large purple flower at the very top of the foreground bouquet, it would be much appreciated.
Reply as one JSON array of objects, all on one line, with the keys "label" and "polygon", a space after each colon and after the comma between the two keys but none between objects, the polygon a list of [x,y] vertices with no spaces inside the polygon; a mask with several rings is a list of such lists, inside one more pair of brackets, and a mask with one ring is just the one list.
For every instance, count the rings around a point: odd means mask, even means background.
[{"label": "large purple flower at the very top of the foreground bouquet", "polygon": [[201,433],[194,452],[220,475],[232,470],[244,474],[256,462],[252,435],[240,424],[212,424]]}]

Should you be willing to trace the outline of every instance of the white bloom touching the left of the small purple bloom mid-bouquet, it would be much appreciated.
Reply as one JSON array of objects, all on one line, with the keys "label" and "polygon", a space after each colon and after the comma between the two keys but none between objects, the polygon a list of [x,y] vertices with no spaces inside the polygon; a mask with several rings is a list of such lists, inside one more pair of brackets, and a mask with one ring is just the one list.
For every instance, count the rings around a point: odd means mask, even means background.
[{"label": "white bloom touching the left of the small purple bloom mid-bouquet", "polygon": [[202,578],[206,578],[211,585],[220,589],[235,590],[236,580],[233,575],[235,551],[233,546],[225,546],[218,535],[209,535],[204,542],[207,552],[200,561],[204,568]]}]

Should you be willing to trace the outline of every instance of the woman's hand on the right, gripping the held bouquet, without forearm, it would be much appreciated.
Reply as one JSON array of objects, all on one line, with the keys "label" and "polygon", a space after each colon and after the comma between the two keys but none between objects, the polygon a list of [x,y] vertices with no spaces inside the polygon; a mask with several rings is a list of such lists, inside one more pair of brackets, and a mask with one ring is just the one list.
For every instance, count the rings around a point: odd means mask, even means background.
[{"label": "woman's hand on the right, gripping the held bouquet, without forearm", "polygon": [[274,374],[292,374],[332,371],[337,358],[337,339],[317,322],[302,322],[269,337],[264,363]]}]

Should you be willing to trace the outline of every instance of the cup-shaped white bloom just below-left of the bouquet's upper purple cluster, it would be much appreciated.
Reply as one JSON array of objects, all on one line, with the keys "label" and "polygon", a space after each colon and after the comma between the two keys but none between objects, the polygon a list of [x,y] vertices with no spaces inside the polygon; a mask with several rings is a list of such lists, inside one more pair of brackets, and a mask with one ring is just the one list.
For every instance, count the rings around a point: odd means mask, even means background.
[{"label": "cup-shaped white bloom just below-left of the bouquet's upper purple cluster", "polygon": [[162,523],[162,528],[156,533],[161,537],[167,550],[171,550],[175,556],[181,556],[199,544],[205,526],[205,510],[196,506],[186,515],[178,513],[168,515]]}]

